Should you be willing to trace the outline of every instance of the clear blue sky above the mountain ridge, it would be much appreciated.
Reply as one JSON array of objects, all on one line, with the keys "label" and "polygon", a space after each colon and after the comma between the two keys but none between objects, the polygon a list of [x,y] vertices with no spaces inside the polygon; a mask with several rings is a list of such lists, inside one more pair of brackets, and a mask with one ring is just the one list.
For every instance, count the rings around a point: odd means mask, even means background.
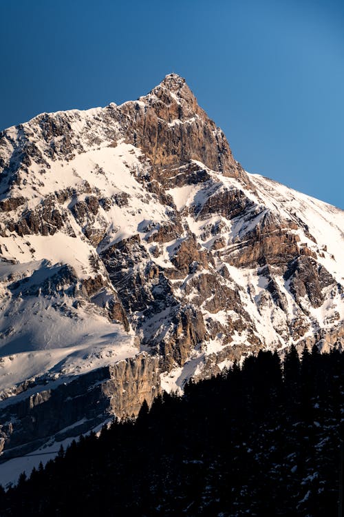
[{"label": "clear blue sky above the mountain ridge", "polygon": [[177,72],[246,170],[344,208],[343,28],[343,0],[0,0],[0,129]]}]

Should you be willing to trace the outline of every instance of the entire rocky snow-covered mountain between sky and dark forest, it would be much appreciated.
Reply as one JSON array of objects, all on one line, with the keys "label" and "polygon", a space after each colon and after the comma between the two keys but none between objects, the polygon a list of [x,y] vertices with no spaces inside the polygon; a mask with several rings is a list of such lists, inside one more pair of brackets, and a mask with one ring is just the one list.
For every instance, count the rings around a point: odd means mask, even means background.
[{"label": "entire rocky snow-covered mountain between sky and dark forest", "polygon": [[344,212],[245,172],[178,75],[1,132],[0,171],[5,455],[259,349],[344,344]]}]

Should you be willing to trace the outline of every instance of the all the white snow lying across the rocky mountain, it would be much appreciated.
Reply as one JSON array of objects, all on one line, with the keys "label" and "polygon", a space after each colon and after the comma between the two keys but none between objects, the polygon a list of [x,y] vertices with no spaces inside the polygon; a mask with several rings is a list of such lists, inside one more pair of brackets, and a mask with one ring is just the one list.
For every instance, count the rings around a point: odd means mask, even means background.
[{"label": "all the white snow lying across the rocky mountain", "polygon": [[[158,88],[164,88],[164,85]],[[170,94],[177,103],[181,102],[178,94]],[[157,98],[151,92],[148,97],[141,97],[135,102],[144,108],[147,102],[154,99]],[[133,343],[133,332],[127,334],[120,325],[109,322],[92,303],[86,303],[75,310],[72,296],[23,296],[21,292],[34,285],[41,285],[63,264],[74,268],[79,281],[99,273],[107,278],[105,267],[100,264],[95,270],[90,259],[97,252],[133,235],[140,235],[140,244],[147,251],[149,260],[166,269],[173,267],[171,259],[178,252],[180,243],[190,232],[195,234],[202,249],[213,254],[215,269],[219,270],[223,265],[228,268],[230,278],[223,281],[231,289],[237,289],[243,309],[252,318],[255,327],[252,332],[262,338],[266,347],[282,348],[294,342],[290,338],[290,325],[302,312],[294,301],[288,281],[283,278],[283,272],[275,272],[274,279],[285,297],[286,312],[272,301],[266,290],[268,278],[261,274],[259,267],[234,267],[230,260],[231,254],[235,250],[239,253],[239,245],[244,244],[248,234],[259,226],[263,218],[272,215],[281,225],[286,222],[297,225],[297,230],[289,227],[288,232],[299,237],[300,244],[305,243],[316,253],[316,260],[334,276],[336,282],[344,282],[342,210],[259,174],[247,173],[248,181],[242,181],[209,170],[195,160],[191,164],[206,170],[211,179],[166,190],[182,218],[184,231],[168,243],[159,243],[160,255],[153,256],[153,243],[148,243],[147,238],[154,234],[159,225],[171,221],[173,210],[162,205],[155,194],[144,188],[141,180],[149,174],[151,164],[140,149],[118,137],[120,127],[116,117],[107,116],[111,110],[117,109],[111,103],[107,108],[70,110],[47,115],[53,120],[67,121],[71,125],[75,153],[68,159],[47,159],[49,166],[32,162],[28,174],[25,173],[25,196],[29,198],[28,209],[34,210],[46,196],[55,199],[56,191],[74,190],[72,199],[68,196],[67,201],[59,206],[65,216],[65,226],[54,235],[19,236],[7,231],[6,236],[0,236],[1,258],[14,262],[0,263],[0,390],[5,390],[7,394],[10,394],[13,385],[26,378],[47,376],[49,382],[54,383],[60,378],[72,377],[138,352]],[[180,124],[193,123],[195,118],[197,116],[186,121],[174,119],[168,124],[178,131]],[[40,120],[41,115],[29,121],[25,124],[25,130],[33,135],[30,138],[44,154],[50,143],[42,138]],[[19,129],[14,127],[9,128],[6,134],[8,139],[1,153],[7,160],[13,152],[13,142],[18,141],[20,135]],[[57,147],[62,142],[61,136],[54,139]],[[183,173],[184,170],[175,169],[175,177]],[[21,189],[22,185],[14,185],[11,195],[22,195]],[[100,206],[92,222],[92,227],[104,235],[96,249],[83,234],[84,223],[79,224],[71,212],[76,203],[87,200],[90,190],[97,197],[108,201],[107,210]],[[225,190],[246,196],[252,201],[252,206],[231,220],[216,213],[209,214],[206,219],[197,218],[197,210],[211,196]],[[116,196],[120,195],[125,196],[122,205],[116,202]],[[8,193],[3,187],[2,199],[6,196]],[[193,208],[196,215],[193,214]],[[22,207],[18,210],[22,210]],[[220,229],[217,231],[218,226]],[[75,237],[72,236],[73,232]],[[310,239],[310,234],[316,242]],[[212,249],[219,236],[226,243],[220,252]],[[192,276],[190,274],[186,278],[171,281],[178,300],[184,300],[184,288]],[[18,290],[14,290],[11,285],[21,278],[27,278],[27,281]],[[107,294],[101,296],[106,298]],[[191,292],[188,301],[192,301],[195,296],[197,292]],[[327,288],[325,303],[321,307],[312,307],[307,297],[301,304],[308,314],[306,319],[310,324],[310,330],[304,338],[319,328],[332,328],[334,318],[337,318],[335,321],[338,321],[338,325],[344,321],[343,294],[336,287]],[[217,321],[224,327],[228,318],[235,321],[241,317],[226,308],[217,314],[208,313],[204,307],[201,310],[205,321]],[[145,321],[143,330],[146,336],[152,339],[166,336],[170,317],[171,310],[168,309]],[[232,332],[231,343],[246,345],[249,333],[248,328],[241,333]],[[195,352],[195,356],[191,356],[183,367],[162,374],[162,387],[180,392],[187,378],[202,371],[206,356],[223,349],[222,343],[221,335],[208,340],[208,343],[204,343],[202,353]],[[228,365],[228,360],[219,363],[220,368]]]}]

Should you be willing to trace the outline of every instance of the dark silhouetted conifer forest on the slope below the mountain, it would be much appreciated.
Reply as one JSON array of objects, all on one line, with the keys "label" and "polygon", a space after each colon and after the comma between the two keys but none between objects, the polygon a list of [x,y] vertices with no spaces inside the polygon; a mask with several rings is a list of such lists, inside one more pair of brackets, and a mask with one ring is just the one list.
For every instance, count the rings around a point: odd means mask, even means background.
[{"label": "dark silhouetted conifer forest on the slope below the mountain", "polygon": [[80,437],[1,490],[0,515],[337,515],[343,372],[338,350],[259,352]]}]

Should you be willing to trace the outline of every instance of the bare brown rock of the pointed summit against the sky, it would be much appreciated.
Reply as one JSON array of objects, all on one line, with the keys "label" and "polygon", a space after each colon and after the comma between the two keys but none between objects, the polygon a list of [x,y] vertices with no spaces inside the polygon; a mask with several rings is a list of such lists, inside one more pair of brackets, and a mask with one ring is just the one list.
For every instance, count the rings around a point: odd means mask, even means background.
[{"label": "bare brown rock of the pointed summit against the sky", "polygon": [[125,103],[118,109],[127,142],[153,165],[173,169],[193,159],[226,176],[241,175],[224,133],[197,105],[185,79],[169,74],[145,99],[144,107]]}]

